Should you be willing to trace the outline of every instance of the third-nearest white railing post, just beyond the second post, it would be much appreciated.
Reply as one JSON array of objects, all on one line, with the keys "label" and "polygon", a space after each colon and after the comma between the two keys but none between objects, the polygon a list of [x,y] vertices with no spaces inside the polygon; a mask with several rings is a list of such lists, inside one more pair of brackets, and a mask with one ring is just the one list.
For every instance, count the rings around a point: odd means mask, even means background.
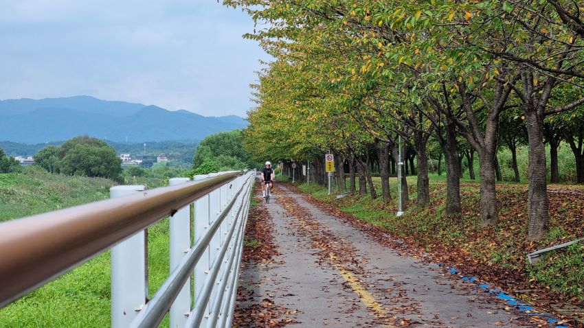
[{"label": "third-nearest white railing post, just beyond the second post", "polygon": [[[199,174],[194,176],[194,180],[203,180],[207,178],[206,174]],[[194,240],[198,240],[203,235],[210,226],[209,218],[209,195],[205,195],[199,200],[194,202]],[[203,283],[205,282],[205,277],[209,272],[209,247],[205,250],[205,254],[201,256],[199,262],[194,267],[194,301],[199,297],[201,288],[203,288]]]}]

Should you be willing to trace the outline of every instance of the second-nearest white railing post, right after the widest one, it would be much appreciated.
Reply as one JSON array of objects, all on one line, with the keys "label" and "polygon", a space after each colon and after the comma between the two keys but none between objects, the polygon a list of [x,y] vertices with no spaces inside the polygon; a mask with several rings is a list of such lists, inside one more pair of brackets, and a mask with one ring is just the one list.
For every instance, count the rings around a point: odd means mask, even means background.
[{"label": "second-nearest white railing post, right after the widest one", "polygon": [[[179,185],[190,181],[190,178],[171,178],[169,184]],[[190,249],[190,206],[179,209],[170,218],[170,271],[175,270]],[[190,281],[170,307],[170,327],[185,327],[190,312]]]}]

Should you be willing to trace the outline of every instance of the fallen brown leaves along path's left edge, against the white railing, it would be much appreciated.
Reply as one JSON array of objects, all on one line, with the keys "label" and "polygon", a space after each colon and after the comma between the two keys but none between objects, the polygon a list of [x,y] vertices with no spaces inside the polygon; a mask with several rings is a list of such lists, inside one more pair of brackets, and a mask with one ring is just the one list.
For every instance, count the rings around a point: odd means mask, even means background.
[{"label": "fallen brown leaves along path's left edge, against the white railing", "polygon": [[[255,194],[261,193],[256,185]],[[279,255],[273,237],[273,220],[265,204],[250,207],[245,228],[241,271],[254,266],[266,266],[273,263],[273,258]],[[284,327],[296,323],[295,310],[280,307],[269,297],[258,300],[251,288],[254,281],[243,281],[240,277],[234,320],[232,327]]]}]

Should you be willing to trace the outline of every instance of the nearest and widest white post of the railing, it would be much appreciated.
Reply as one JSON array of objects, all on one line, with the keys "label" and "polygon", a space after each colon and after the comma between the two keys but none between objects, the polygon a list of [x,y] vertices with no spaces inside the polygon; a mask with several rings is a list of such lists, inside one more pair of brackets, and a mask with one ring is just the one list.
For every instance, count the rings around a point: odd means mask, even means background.
[{"label": "nearest and widest white post of the railing", "polygon": [[[144,191],[143,185],[109,189],[110,198]],[[140,231],[111,248],[111,327],[128,327],[146,304],[146,246]]]}]

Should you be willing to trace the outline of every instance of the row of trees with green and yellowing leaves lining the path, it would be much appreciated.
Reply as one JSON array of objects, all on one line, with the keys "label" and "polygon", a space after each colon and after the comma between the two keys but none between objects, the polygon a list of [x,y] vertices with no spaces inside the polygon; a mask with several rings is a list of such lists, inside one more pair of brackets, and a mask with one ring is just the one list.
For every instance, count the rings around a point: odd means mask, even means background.
[{"label": "row of trees with green and yellowing leaves lining the path", "polygon": [[446,212],[457,215],[460,155],[476,153],[480,224],[490,225],[499,217],[497,150],[515,152],[524,140],[532,240],[549,229],[544,143],[552,181],[565,141],[584,183],[584,7],[577,1],[223,3],[249,13],[258,30],[247,37],[275,58],[254,85],[258,106],[245,132],[257,159],[322,161],[331,149],[355,163],[359,183],[377,198],[366,163],[374,150],[381,196],[390,200],[388,167],[402,137],[416,154],[417,204],[424,207],[434,142],[447,168]]}]

